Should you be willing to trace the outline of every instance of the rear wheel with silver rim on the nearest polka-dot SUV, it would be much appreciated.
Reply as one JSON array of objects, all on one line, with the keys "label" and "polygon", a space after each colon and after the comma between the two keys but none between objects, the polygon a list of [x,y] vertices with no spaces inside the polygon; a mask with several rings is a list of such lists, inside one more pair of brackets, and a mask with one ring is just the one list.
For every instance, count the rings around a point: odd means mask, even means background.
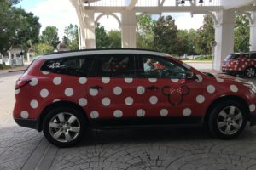
[{"label": "rear wheel with silver rim on the nearest polka-dot SUV", "polygon": [[85,131],[85,116],[82,111],[71,107],[58,107],[49,111],[44,118],[44,136],[49,143],[70,147],[79,143]]}]

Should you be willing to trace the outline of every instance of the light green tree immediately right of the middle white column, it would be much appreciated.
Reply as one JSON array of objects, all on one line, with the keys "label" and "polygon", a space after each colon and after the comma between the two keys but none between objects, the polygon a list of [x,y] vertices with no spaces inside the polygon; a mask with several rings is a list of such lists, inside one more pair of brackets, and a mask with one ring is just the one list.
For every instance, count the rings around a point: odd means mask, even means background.
[{"label": "light green tree immediately right of the middle white column", "polygon": [[155,22],[150,15],[137,15],[137,48],[154,48]]}]

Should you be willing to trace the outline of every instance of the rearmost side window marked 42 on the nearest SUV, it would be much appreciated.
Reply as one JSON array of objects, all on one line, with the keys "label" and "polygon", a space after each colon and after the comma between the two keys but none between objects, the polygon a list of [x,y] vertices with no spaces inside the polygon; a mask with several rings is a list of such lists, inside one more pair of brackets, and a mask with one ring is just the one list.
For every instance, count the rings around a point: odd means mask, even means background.
[{"label": "rearmost side window marked 42 on the nearest SUV", "polygon": [[41,71],[49,71],[70,76],[87,76],[91,62],[91,57],[49,59],[44,62]]}]

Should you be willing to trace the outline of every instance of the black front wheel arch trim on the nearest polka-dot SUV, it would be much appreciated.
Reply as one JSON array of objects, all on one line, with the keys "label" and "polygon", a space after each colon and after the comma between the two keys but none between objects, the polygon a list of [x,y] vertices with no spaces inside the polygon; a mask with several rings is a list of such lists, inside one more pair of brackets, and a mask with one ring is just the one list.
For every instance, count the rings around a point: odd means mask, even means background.
[{"label": "black front wheel arch trim on the nearest polka-dot SUV", "polygon": [[236,100],[239,103],[241,103],[242,105],[246,105],[246,107],[244,109],[247,112],[247,120],[249,119],[250,111],[249,111],[249,107],[248,107],[247,101],[245,99],[242,99],[239,96],[227,95],[227,96],[223,96],[223,97],[220,97],[218,99],[215,99],[212,102],[212,104],[207,107],[207,111],[206,111],[205,116],[203,118],[203,123],[207,123],[208,122],[208,119],[209,119],[209,116],[210,116],[212,108],[215,107],[216,105],[218,105],[219,102],[224,101],[224,100],[228,100],[228,101],[229,100]]}]

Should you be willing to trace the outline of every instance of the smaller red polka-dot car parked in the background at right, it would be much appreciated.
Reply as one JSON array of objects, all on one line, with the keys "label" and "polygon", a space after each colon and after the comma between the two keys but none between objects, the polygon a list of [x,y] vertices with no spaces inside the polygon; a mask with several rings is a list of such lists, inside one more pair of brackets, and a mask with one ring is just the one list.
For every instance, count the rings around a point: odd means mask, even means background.
[{"label": "smaller red polka-dot car parked in the background at right", "polygon": [[255,77],[256,52],[228,55],[223,61],[222,71],[232,75]]}]

